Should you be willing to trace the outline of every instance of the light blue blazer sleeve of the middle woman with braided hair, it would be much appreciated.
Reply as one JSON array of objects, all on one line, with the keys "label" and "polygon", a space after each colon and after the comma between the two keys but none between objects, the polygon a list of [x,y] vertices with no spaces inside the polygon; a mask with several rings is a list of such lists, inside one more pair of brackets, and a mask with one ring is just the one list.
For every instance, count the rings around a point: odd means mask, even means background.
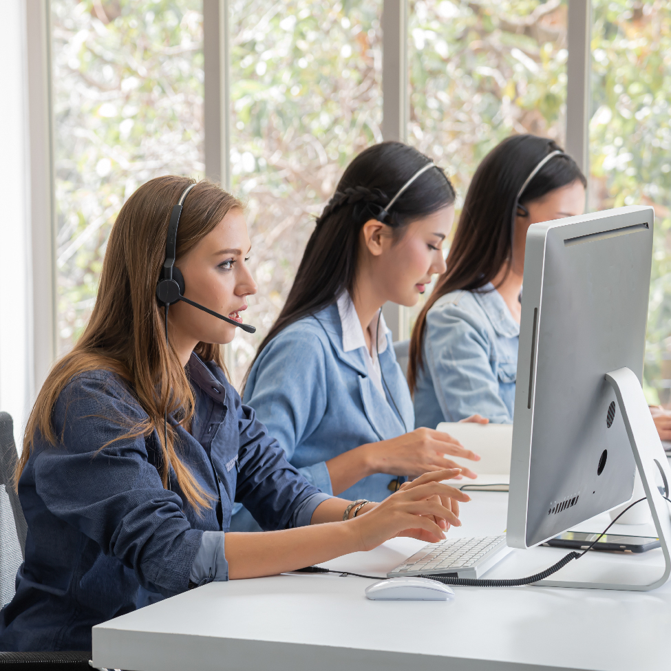
[{"label": "light blue blazer sleeve of the middle woman with braided hair", "polygon": [[[326,412],[327,387],[321,341],[309,332],[292,332],[290,339],[281,333],[256,361],[245,403],[255,409],[291,460],[296,447],[312,434]],[[321,491],[333,493],[325,461],[298,470]]]}]

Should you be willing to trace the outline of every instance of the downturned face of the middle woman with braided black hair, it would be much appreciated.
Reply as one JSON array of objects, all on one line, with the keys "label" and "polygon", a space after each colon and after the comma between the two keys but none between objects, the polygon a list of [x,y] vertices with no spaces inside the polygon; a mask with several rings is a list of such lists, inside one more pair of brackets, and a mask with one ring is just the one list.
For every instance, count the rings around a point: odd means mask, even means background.
[{"label": "downturned face of the middle woman with braided black hair", "polygon": [[450,205],[409,224],[400,239],[394,235],[381,238],[381,253],[373,254],[370,262],[385,301],[414,306],[432,275],[445,272],[443,244],[453,222],[454,206]]}]

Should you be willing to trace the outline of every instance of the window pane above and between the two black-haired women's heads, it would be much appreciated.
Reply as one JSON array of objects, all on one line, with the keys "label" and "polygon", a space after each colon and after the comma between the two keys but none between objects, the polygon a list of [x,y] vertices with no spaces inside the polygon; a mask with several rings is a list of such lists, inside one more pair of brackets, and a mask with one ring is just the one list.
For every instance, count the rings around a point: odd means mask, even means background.
[{"label": "window pane above and between the two black-haired women's heads", "polygon": [[[457,217],[501,140],[533,133],[564,145],[567,13],[566,0],[410,3],[408,142],[448,173]],[[431,288],[409,310],[410,328]]]}]

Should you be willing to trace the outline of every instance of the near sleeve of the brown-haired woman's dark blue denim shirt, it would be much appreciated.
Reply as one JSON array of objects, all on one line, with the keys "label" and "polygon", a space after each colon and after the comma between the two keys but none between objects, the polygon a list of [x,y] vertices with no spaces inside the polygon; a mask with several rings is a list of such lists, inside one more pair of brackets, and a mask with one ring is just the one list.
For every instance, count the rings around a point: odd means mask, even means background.
[{"label": "near sleeve of the brown-haired woman's dark blue denim shirt", "polygon": [[137,402],[109,374],[82,375],[61,392],[52,418],[58,442],[34,460],[47,509],[134,571],[142,587],[164,596],[186,590],[203,532],[163,488],[142,432],[125,435],[147,419]]}]

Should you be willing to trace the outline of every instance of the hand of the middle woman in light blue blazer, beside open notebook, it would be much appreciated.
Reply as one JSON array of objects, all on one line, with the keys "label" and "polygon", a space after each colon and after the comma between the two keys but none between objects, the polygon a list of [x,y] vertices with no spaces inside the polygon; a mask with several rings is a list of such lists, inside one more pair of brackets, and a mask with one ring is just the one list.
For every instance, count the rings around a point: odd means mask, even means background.
[{"label": "hand of the middle woman in light blue blazer, beside open notebook", "polygon": [[[484,421],[487,422],[488,420]],[[472,461],[479,461],[480,456],[469,449],[465,449],[456,438],[452,438],[452,436],[442,431],[436,431],[436,429],[415,429],[408,434],[398,436],[398,438],[380,440],[379,443],[369,443],[357,449],[362,450],[365,454],[369,474],[389,473],[392,476],[416,478],[429,471],[457,468],[461,469],[460,475],[467,476],[467,478],[478,477],[473,471],[448,459],[447,455]]]}]

